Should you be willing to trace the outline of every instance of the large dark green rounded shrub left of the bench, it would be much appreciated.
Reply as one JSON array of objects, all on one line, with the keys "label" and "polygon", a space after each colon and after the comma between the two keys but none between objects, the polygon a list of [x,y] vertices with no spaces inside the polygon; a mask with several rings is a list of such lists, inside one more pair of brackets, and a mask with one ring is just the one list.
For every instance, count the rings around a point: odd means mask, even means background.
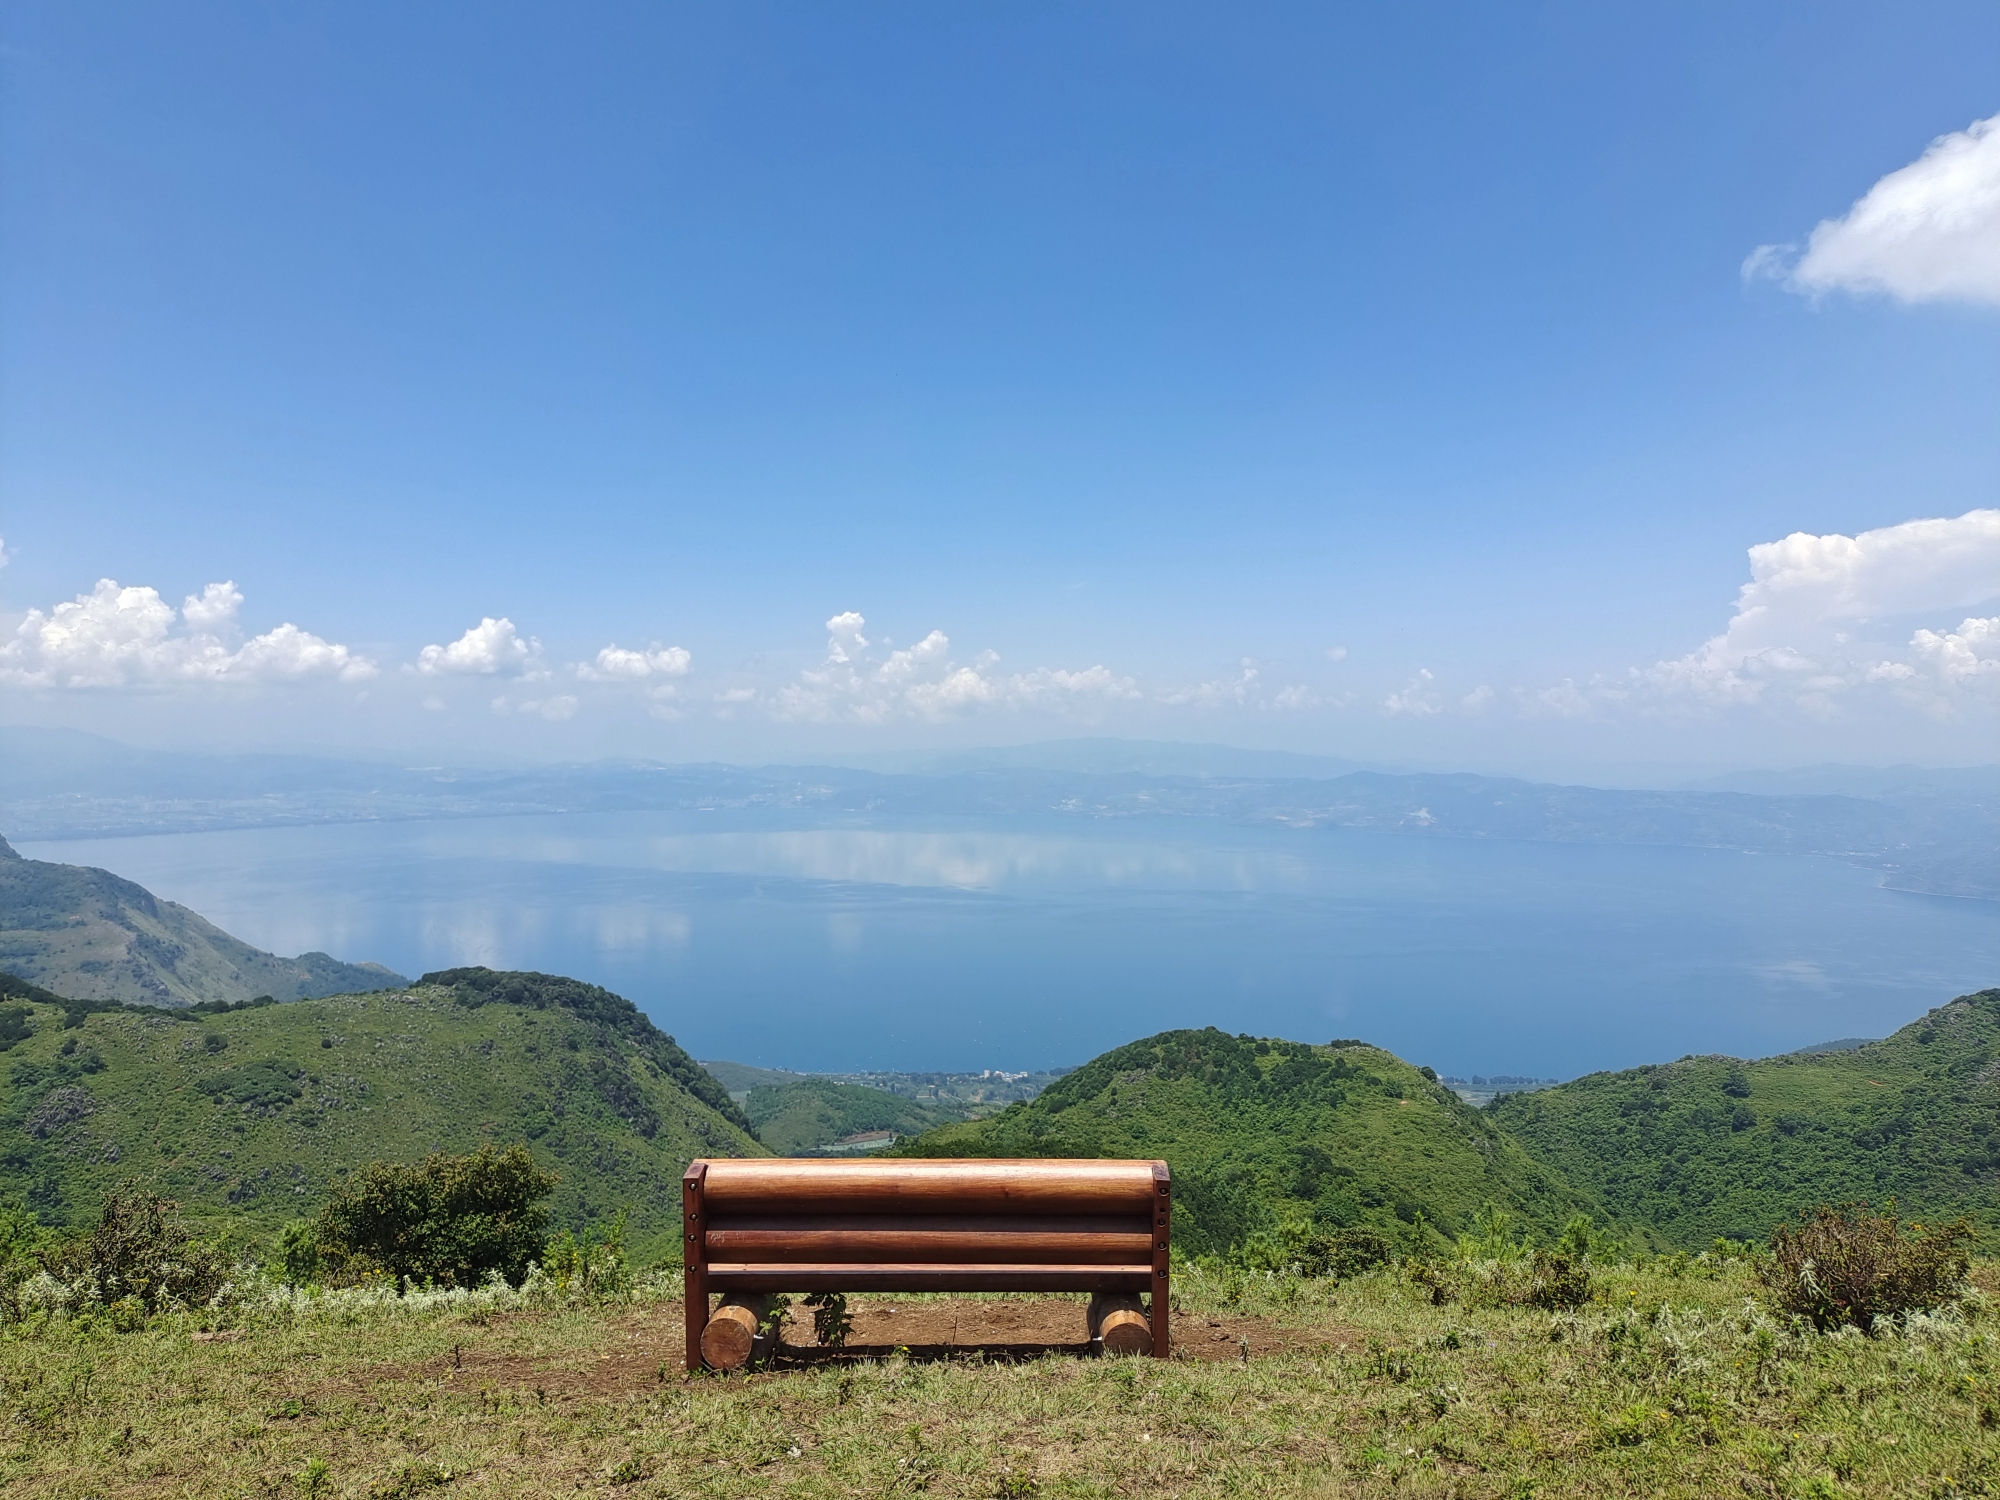
[{"label": "large dark green rounded shrub left of the bench", "polygon": [[472,1288],[498,1272],[518,1286],[546,1250],[540,1200],[554,1190],[526,1146],[372,1162],[320,1210],[320,1256],[344,1282],[386,1274],[398,1286]]}]

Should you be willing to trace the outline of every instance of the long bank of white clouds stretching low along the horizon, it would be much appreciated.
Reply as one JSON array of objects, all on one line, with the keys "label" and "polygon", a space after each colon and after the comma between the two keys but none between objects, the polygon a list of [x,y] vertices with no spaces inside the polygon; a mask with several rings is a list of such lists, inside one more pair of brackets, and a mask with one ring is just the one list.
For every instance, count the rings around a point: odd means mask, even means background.
[{"label": "long bank of white clouds stretching low along the horizon", "polygon": [[[502,682],[496,714],[546,722],[636,696],[656,718],[710,714],[772,722],[940,722],[972,714],[1040,712],[1116,724],[1136,708],[1170,712],[1374,712],[1440,718],[1804,714],[1924,718],[2000,710],[2000,508],[1906,520],[1856,536],[1794,532],[1748,552],[1750,580],[1734,614],[1706,642],[1620,676],[1558,686],[1458,684],[1430,664],[1386,696],[1266,680],[1252,658],[1226,678],[1146,684],[1102,662],[1080,668],[1000,668],[980,650],[960,658],[944,630],[912,646],[870,640],[868,620],[844,610],[826,622],[818,664],[786,680],[700,682],[684,646],[608,644],[586,660],[550,666],[536,636],[510,616],[484,616],[458,638],[418,648],[404,678],[432,688],[450,678]],[[88,594],[28,610],[0,646],[0,684],[16,692],[162,692],[270,684],[362,684],[380,666],[360,652],[280,624],[248,640],[232,582],[208,584],[176,612],[156,588],[104,578]],[[1322,650],[1346,664],[1346,648]],[[736,674],[738,678],[742,674]],[[540,688],[562,680],[562,690]],[[534,696],[520,690],[534,686]],[[452,704],[434,690],[424,708]]]}]

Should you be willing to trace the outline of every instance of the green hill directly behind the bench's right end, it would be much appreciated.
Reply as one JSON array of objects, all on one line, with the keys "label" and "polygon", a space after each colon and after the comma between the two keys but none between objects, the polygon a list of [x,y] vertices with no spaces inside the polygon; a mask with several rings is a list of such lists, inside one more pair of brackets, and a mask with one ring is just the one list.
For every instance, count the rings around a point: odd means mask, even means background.
[{"label": "green hill directly behind the bench's right end", "polygon": [[1162,1032],[1084,1064],[1026,1104],[948,1124],[908,1156],[1160,1156],[1174,1244],[1220,1252],[1288,1218],[1470,1228],[1488,1200],[1554,1236],[1602,1214],[1422,1068],[1360,1042],[1308,1046],[1214,1028]]}]

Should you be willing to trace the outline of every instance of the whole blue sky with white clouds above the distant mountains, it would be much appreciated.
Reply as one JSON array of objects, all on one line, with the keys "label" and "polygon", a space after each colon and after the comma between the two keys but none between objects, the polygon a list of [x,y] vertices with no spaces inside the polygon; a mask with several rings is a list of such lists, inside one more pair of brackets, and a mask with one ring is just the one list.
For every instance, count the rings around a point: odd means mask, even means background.
[{"label": "whole blue sky with white clouds above the distant mountains", "polygon": [[1996,62],[1990,4],[14,4],[0,718],[1992,760]]}]

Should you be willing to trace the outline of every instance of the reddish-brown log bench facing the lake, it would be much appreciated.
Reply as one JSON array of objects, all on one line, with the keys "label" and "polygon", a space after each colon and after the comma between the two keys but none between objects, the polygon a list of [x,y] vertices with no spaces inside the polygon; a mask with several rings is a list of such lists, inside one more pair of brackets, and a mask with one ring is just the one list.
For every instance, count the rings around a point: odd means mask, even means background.
[{"label": "reddish-brown log bench facing the lake", "polygon": [[[680,1180],[688,1370],[704,1364],[712,1292],[736,1330],[770,1292],[1094,1292],[1092,1338],[1166,1358],[1170,1188],[1166,1162],[692,1162]],[[740,1356],[710,1364],[748,1358],[736,1330],[710,1342]]]}]

